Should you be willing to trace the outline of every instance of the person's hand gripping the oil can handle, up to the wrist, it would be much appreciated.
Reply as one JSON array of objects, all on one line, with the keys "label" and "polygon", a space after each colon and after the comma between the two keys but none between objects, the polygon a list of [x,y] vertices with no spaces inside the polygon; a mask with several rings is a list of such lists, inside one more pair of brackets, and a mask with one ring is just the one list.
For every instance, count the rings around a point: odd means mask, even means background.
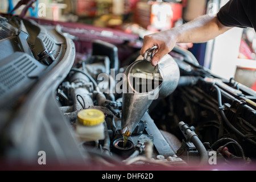
[{"label": "person's hand gripping the oil can handle, up to the wrist", "polygon": [[156,32],[154,34],[146,35],[143,39],[143,46],[141,48],[141,55],[144,56],[145,51],[153,46],[157,46],[157,52],[151,60],[151,64],[155,66],[160,59],[174,48],[177,42],[177,36],[174,31],[166,30]]}]

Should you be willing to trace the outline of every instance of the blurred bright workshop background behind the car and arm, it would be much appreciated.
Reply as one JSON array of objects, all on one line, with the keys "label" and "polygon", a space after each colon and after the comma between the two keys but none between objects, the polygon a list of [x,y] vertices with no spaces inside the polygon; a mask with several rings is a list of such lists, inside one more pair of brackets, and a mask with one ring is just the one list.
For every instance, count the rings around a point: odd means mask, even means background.
[{"label": "blurred bright workshop background behind the car and arm", "polygon": [[[21,5],[11,12],[18,2],[19,0],[0,0],[0,13],[22,13],[26,5]],[[143,39],[146,34],[180,26],[198,16],[216,14],[228,0],[23,0],[21,2],[24,4],[35,2],[26,13],[26,16],[31,18],[113,28],[139,35]],[[105,34],[111,36],[108,32]],[[207,43],[179,46],[189,49],[199,63],[213,73],[227,79],[233,78],[256,90],[256,36],[252,28],[244,30],[233,28]]]}]

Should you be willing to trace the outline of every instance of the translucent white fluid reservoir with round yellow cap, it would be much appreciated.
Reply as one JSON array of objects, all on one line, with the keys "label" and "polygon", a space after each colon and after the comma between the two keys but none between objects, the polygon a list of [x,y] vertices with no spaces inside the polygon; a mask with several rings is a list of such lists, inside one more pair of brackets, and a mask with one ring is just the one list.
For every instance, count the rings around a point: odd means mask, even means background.
[{"label": "translucent white fluid reservoir with round yellow cap", "polygon": [[105,115],[97,109],[84,109],[77,114],[76,133],[81,141],[96,141],[105,138]]}]

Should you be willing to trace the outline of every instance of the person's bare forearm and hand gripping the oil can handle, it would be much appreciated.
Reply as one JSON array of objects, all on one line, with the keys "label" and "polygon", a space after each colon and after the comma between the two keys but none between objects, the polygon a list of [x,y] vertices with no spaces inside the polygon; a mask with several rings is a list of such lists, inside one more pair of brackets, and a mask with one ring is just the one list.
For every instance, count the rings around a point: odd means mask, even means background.
[{"label": "person's bare forearm and hand gripping the oil can handle", "polygon": [[156,65],[164,55],[172,51],[176,43],[207,42],[230,28],[222,25],[215,16],[200,16],[180,27],[144,36],[141,55],[147,49],[157,46],[158,52],[152,58],[152,65]]}]

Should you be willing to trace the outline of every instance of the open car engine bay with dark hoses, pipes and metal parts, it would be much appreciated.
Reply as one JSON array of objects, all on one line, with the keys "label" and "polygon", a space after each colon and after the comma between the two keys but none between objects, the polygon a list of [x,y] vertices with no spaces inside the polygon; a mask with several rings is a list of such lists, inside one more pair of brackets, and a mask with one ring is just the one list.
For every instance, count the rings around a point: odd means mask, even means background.
[{"label": "open car engine bay with dark hoses, pipes and metal parts", "polygon": [[[49,167],[90,170],[253,166],[254,90],[213,75],[176,46],[168,56],[177,67],[166,71],[178,74],[167,85],[172,92],[150,104],[131,102],[122,76],[143,59],[134,46],[141,42],[124,32],[2,14],[2,166],[40,167],[42,154]],[[86,139],[77,132],[79,113],[90,109],[104,114],[101,139],[88,139],[92,127]],[[126,120],[136,125],[124,144],[122,118],[129,111]]]}]

